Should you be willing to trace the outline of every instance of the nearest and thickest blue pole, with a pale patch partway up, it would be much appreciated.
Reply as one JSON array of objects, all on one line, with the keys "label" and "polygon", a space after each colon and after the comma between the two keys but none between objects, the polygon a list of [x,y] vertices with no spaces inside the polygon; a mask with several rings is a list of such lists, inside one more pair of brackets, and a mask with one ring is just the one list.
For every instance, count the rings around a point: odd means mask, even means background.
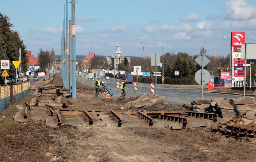
[{"label": "nearest and thickest blue pole, with a pale patch partway up", "polygon": [[76,98],[75,62],[75,0],[72,0],[72,98]]}]

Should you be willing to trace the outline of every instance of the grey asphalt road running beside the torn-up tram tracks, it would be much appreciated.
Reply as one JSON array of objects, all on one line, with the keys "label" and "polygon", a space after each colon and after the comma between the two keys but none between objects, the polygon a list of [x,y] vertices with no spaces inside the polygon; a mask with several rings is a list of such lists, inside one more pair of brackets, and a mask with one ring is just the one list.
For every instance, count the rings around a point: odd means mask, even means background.
[{"label": "grey asphalt road running beside the torn-up tram tracks", "polygon": [[[94,87],[95,86],[95,81],[94,82],[92,79],[90,81],[88,79],[84,79],[81,77],[77,77],[77,79],[84,83],[85,85],[89,85]],[[102,80],[102,77],[101,77]],[[106,81],[106,85],[108,86],[109,89],[111,89],[115,94],[114,97],[118,97],[121,95],[122,90],[120,89],[121,87],[121,82],[122,80],[116,79],[115,84],[114,84],[114,79],[110,78],[109,80],[105,80],[105,77],[103,79]],[[116,82],[119,82],[119,89],[117,89]],[[136,96],[142,96],[146,93],[151,94],[151,84],[143,84],[143,83],[137,83],[137,91],[134,91],[134,82],[133,84],[126,84],[126,97],[136,97]],[[200,90],[194,90],[190,88],[166,88],[166,87],[158,87],[155,88],[154,86],[154,93],[156,95],[164,96],[165,97],[165,103],[167,104],[187,104],[190,105],[191,102],[194,100],[201,100],[203,96],[203,100],[209,100],[211,98],[239,98],[243,97],[241,95],[229,95],[229,94],[220,94],[220,93],[212,93],[210,91],[202,91]]]}]

